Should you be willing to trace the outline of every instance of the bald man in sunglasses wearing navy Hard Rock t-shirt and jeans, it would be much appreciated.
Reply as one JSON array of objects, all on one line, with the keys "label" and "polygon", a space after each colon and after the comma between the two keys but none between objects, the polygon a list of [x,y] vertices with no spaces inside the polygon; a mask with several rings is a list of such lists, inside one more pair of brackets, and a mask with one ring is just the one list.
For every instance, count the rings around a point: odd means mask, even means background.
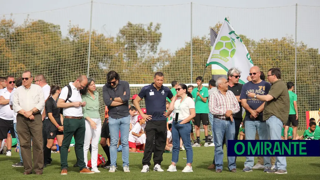
[{"label": "bald man in sunglasses wearing navy Hard Rock t-shirt and jeans", "polygon": [[[260,140],[268,140],[267,123],[262,119],[264,109],[264,101],[256,97],[249,97],[250,92],[257,95],[267,95],[271,85],[260,79],[260,68],[253,66],[250,68],[250,78],[252,81],[245,83],[241,90],[241,104],[245,109],[244,126],[245,126],[245,139],[254,140],[256,131],[258,131]],[[254,157],[246,157],[244,162],[244,172],[251,172],[254,163]],[[269,171],[271,168],[270,157],[264,157],[264,172]]]}]

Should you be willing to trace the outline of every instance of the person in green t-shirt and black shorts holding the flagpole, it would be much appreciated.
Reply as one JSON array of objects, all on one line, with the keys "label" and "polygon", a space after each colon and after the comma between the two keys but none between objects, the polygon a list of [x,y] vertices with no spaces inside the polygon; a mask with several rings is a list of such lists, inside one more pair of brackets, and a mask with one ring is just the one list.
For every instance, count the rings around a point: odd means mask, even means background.
[{"label": "person in green t-shirt and black shorts holding the flagpole", "polygon": [[[204,136],[205,136],[205,143],[204,147],[209,147],[208,144],[208,124],[209,124],[209,105],[208,105],[208,88],[203,87],[201,84],[201,79],[202,82],[204,82],[204,79],[201,76],[196,77],[196,83],[198,87],[192,90],[192,97],[193,100],[196,103],[196,116],[193,118],[194,119],[194,125],[196,128],[196,137],[197,137],[197,142],[193,145],[193,147],[200,147],[200,125],[202,121],[202,125],[204,128]],[[198,90],[200,89],[200,92]]]}]

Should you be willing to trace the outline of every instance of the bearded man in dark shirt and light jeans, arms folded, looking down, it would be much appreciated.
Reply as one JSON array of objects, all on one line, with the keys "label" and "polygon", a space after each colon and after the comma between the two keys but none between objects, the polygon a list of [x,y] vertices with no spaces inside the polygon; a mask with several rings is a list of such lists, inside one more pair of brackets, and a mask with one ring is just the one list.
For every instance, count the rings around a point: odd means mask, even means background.
[{"label": "bearded man in dark shirt and light jeans, arms folded, looking down", "polygon": [[120,80],[120,75],[116,71],[109,71],[107,74],[107,83],[102,88],[103,100],[108,106],[109,132],[110,132],[110,170],[116,171],[117,145],[120,139],[122,145],[122,159],[124,172],[129,170],[129,131],[130,131],[130,113],[129,83]]}]

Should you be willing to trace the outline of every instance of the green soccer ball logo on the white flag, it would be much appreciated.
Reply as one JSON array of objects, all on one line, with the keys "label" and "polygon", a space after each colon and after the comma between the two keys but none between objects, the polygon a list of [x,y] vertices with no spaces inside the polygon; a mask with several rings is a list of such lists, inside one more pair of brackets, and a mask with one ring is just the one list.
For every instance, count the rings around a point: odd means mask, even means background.
[{"label": "green soccer ball logo on the white flag", "polygon": [[[219,41],[217,42],[216,46],[214,47],[215,50],[219,50],[219,55],[222,56],[225,59],[225,62],[227,62],[230,58],[232,58],[236,53],[236,44],[234,40],[228,36],[221,36]],[[218,54],[215,54],[218,55]],[[227,61],[226,61],[227,60]]]}]

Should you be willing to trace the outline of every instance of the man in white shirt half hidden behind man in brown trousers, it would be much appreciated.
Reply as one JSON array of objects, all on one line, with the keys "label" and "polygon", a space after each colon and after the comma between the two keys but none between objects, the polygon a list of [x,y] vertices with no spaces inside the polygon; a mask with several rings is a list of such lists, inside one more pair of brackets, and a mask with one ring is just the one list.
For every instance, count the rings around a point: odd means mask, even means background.
[{"label": "man in white shirt half hidden behind man in brown trousers", "polygon": [[[43,74],[38,74],[35,76],[35,84],[39,85],[42,88],[43,94],[44,94],[44,103],[47,101],[49,95],[50,95],[50,86],[47,84],[47,80],[44,77]],[[47,116],[45,116],[45,108],[41,111],[41,116],[42,116],[42,124],[43,124],[43,131],[42,131],[42,139],[43,139],[43,150],[44,147],[47,145],[47,132],[45,131],[45,127],[48,121]],[[48,159],[44,159],[44,164],[51,164],[52,158],[51,154],[49,155]]]}]

